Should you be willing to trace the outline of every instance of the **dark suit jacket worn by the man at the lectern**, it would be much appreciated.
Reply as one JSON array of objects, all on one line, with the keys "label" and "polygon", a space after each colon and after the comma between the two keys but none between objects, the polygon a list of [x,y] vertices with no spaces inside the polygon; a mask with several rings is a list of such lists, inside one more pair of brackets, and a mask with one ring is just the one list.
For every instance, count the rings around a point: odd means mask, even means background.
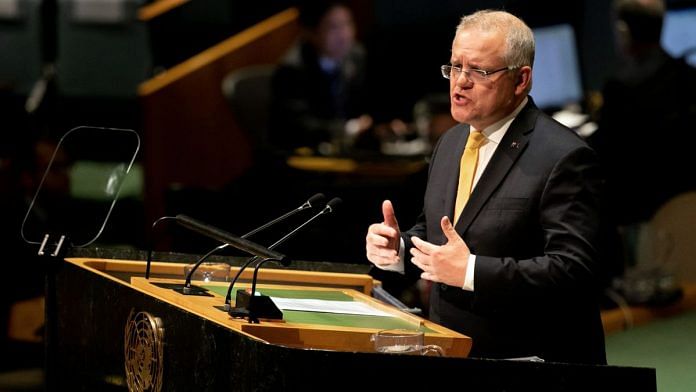
[{"label": "dark suit jacket worn by the man at the lectern", "polygon": [[[440,139],[407,247],[412,235],[446,242],[440,219],[453,216],[468,134],[458,125]],[[594,152],[530,98],[455,225],[477,256],[474,291],[434,284],[431,319],[470,336],[474,357],[605,363],[595,292],[599,188]]]}]

